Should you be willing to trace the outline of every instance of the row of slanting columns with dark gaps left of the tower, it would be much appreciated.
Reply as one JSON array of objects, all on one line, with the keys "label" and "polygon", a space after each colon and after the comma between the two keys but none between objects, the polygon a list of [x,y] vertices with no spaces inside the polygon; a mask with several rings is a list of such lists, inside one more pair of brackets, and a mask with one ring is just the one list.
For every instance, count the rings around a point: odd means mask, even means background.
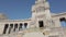
[{"label": "row of slanting columns with dark gaps left of the tower", "polygon": [[22,30],[28,27],[28,23],[4,24],[3,34],[10,34],[13,32]]}]

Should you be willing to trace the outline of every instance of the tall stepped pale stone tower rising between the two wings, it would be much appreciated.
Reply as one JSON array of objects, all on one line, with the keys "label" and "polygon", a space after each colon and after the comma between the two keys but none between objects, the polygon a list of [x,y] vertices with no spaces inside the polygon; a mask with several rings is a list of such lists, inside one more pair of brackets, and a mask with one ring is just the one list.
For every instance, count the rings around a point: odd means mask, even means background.
[{"label": "tall stepped pale stone tower rising between the two wings", "polygon": [[44,26],[51,26],[52,17],[51,17],[50,4],[47,0],[35,1],[35,4],[32,5],[32,18],[36,25],[43,23]]}]

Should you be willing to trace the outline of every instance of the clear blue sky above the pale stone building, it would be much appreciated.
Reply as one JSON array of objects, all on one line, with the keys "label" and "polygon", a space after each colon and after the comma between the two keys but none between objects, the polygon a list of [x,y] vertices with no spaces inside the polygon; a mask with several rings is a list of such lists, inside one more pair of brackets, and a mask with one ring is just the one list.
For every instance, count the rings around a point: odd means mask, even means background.
[{"label": "clear blue sky above the pale stone building", "polygon": [[[24,20],[32,16],[31,8],[35,0],[0,0],[0,13],[10,20]],[[48,0],[51,12],[66,12],[66,0]]]}]

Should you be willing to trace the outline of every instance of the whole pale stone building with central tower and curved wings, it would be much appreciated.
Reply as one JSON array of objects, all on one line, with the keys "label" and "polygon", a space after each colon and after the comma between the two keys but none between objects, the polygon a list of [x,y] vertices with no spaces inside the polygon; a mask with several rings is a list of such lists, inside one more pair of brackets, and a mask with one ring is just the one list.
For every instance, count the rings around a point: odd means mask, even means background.
[{"label": "whole pale stone building with central tower and curved wings", "polygon": [[46,0],[36,0],[32,5],[32,17],[26,20],[9,20],[0,14],[0,37],[65,37],[66,12],[51,13]]}]

